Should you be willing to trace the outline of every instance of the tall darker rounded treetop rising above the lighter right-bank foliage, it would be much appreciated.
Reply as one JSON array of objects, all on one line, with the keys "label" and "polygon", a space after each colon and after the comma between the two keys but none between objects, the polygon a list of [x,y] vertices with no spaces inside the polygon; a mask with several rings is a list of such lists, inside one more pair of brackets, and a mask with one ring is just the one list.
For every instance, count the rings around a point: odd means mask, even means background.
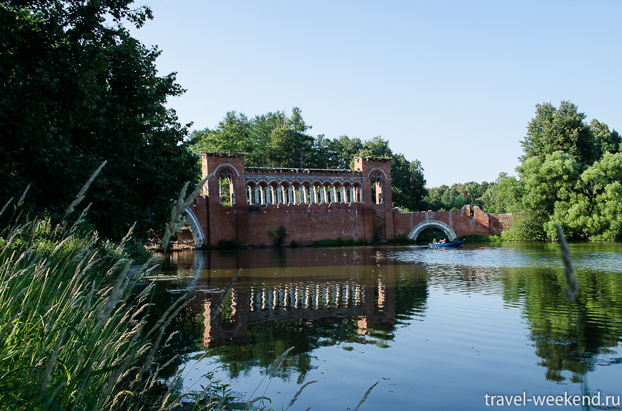
[{"label": "tall darker rounded treetop rising above the lighter right-bank foliage", "polygon": [[570,101],[562,101],[559,108],[551,103],[536,104],[536,117],[529,121],[527,135],[520,144],[525,163],[531,157],[544,161],[547,154],[563,151],[582,166],[598,159],[598,150],[590,127],[583,121],[585,114],[578,112]]}]

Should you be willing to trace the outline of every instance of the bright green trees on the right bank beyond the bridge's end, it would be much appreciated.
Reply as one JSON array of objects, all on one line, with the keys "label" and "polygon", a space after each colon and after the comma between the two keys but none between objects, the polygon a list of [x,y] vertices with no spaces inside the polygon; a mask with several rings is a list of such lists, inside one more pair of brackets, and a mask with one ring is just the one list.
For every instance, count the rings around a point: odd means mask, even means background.
[{"label": "bright green trees on the right bank beyond the bridge's end", "polygon": [[518,179],[499,174],[492,183],[466,183],[428,190],[430,210],[455,210],[464,204],[487,212],[512,213],[505,239],[555,240],[560,224],[572,239],[622,237],[622,139],[569,101],[556,108],[536,105],[520,157]]}]

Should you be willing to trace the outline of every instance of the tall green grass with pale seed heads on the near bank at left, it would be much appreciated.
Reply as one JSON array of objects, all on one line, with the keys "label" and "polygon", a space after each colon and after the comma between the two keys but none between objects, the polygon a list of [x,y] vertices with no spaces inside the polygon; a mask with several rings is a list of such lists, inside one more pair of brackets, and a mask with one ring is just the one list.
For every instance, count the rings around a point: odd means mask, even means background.
[{"label": "tall green grass with pale seed heads on the near bank at left", "polygon": [[[95,234],[32,219],[0,236],[0,409],[100,410],[140,405],[163,323],[144,330],[151,287],[131,288]],[[141,397],[143,396],[143,397]]]}]

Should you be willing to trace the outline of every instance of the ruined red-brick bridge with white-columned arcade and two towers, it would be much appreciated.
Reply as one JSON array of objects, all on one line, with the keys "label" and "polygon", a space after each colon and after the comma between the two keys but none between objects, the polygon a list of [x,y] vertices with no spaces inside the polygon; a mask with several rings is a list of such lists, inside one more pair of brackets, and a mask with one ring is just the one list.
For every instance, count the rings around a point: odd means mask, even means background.
[{"label": "ruined red-brick bridge with white-columned arcade and two towers", "polygon": [[303,245],[339,238],[417,239],[426,228],[455,239],[500,232],[511,217],[468,205],[443,212],[391,208],[390,159],[384,157],[355,157],[354,170],[301,170],[245,167],[244,154],[201,155],[203,176],[214,177],[187,209],[189,241],[196,246],[222,240],[270,244],[270,230],[280,225],[286,241]]}]

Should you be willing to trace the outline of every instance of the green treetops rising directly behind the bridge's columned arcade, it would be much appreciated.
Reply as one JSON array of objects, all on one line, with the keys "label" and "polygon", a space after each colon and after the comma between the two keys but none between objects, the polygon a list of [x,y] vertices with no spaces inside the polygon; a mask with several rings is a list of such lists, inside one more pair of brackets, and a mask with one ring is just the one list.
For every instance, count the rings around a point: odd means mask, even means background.
[{"label": "green treetops rising directly behind the bridge's columned arcade", "polygon": [[254,167],[352,168],[354,156],[391,157],[393,206],[418,211],[424,208],[423,168],[418,160],[396,154],[388,141],[374,137],[368,141],[348,136],[328,139],[312,137],[301,110],[269,112],[249,119],[242,113],[227,112],[214,129],[191,133],[194,152],[247,152],[246,164]]}]

